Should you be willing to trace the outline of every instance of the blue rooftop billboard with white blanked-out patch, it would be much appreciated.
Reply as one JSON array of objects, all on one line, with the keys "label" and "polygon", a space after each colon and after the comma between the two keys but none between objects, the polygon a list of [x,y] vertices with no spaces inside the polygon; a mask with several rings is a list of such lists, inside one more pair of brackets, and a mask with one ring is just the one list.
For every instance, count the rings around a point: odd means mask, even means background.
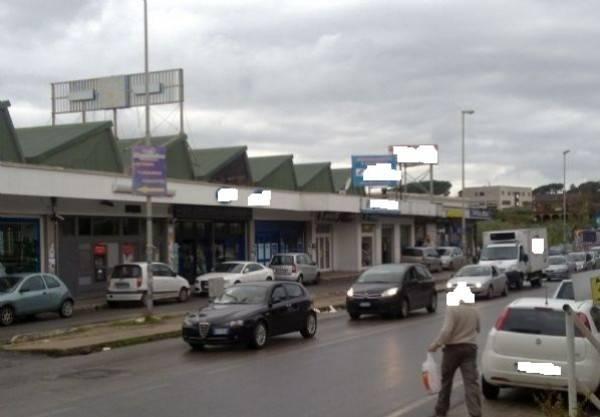
[{"label": "blue rooftop billboard with white blanked-out patch", "polygon": [[396,187],[400,181],[396,155],[352,155],[353,187]]}]

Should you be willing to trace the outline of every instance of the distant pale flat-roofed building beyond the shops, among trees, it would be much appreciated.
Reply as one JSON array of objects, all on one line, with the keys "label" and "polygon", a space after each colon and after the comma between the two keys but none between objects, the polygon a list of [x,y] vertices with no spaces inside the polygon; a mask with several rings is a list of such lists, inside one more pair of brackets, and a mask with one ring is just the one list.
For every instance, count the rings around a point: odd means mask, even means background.
[{"label": "distant pale flat-roofed building beyond the shops, among trees", "polygon": [[531,207],[533,198],[530,187],[506,185],[467,187],[465,188],[465,197],[497,210],[510,207]]}]

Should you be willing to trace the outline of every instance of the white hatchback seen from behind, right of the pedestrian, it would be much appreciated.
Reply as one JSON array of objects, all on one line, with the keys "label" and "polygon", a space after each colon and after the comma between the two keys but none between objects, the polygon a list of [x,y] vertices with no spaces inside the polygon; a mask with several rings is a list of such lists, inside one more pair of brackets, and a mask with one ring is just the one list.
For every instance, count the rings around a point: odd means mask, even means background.
[{"label": "white hatchback seen from behind, right of the pedestrian", "polygon": [[[591,300],[520,298],[500,314],[481,358],[481,384],[487,399],[500,388],[567,390],[567,349],[563,305],[600,336],[600,310]],[[578,383],[592,392],[600,386],[600,353],[575,331],[575,372]],[[584,393],[582,386],[578,390]]]}]

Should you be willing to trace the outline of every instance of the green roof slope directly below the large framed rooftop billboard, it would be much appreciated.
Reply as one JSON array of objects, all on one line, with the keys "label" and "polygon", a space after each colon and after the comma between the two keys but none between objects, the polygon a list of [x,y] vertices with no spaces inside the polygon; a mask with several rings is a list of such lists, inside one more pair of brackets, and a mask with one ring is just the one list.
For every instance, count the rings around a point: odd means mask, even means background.
[{"label": "green roof slope directly below the large framed rooftop billboard", "polygon": [[55,126],[36,126],[16,129],[17,138],[28,162],[39,162],[67,149],[88,135],[110,129],[112,122],[76,123]]}]

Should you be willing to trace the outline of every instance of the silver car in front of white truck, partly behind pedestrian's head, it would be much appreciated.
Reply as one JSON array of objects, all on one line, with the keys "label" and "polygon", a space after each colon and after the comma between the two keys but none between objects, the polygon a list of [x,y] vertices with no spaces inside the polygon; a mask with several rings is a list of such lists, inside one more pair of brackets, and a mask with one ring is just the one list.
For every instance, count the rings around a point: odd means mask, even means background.
[{"label": "silver car in front of white truck, partly behind pedestrian's head", "polygon": [[508,278],[493,265],[466,265],[463,266],[446,283],[449,290],[453,290],[459,282],[464,282],[475,296],[492,298],[498,295],[508,295]]}]

